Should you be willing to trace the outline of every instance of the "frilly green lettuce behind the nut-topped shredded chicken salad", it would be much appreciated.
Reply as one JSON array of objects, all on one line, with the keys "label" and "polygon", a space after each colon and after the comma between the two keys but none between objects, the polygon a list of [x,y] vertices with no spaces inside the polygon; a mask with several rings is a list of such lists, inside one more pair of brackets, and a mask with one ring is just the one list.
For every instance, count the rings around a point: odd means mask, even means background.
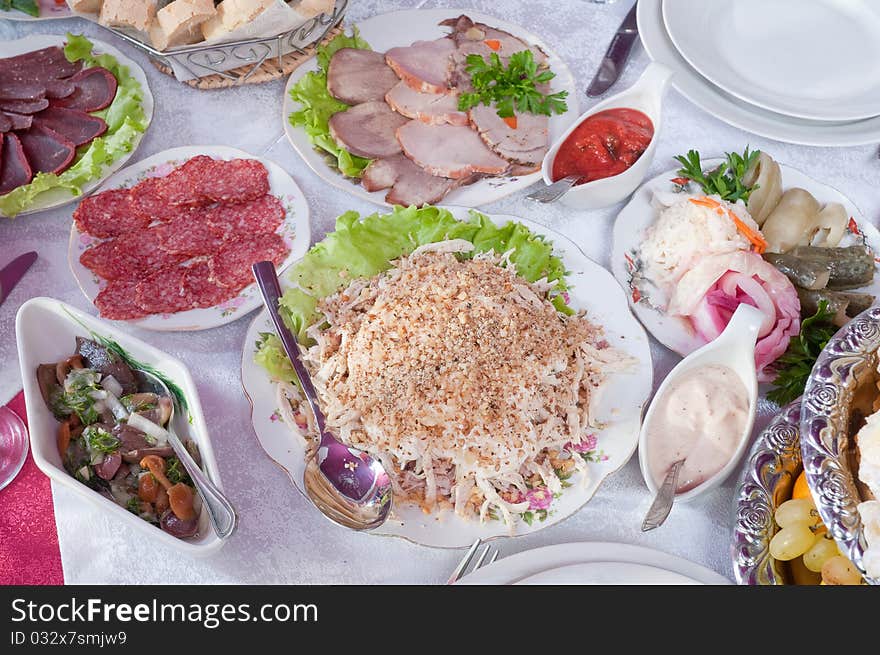
[{"label": "frilly green lettuce behind the nut-topped shredded chicken salad", "polygon": [[[336,219],[336,229],[316,243],[288,273],[294,286],[281,298],[284,322],[301,342],[306,329],[322,319],[317,304],[361,277],[386,271],[395,259],[427,243],[465,239],[475,252],[510,252],[519,275],[530,282],[557,281],[552,302],[564,314],[574,313],[567,303],[565,266],[553,254],[553,245],[521,223],[497,226],[487,216],[471,211],[467,220],[455,218],[440,207],[395,207],[388,214],[361,219],[346,212]],[[293,382],[296,375],[273,335],[261,335],[254,360],[276,380]]]}]

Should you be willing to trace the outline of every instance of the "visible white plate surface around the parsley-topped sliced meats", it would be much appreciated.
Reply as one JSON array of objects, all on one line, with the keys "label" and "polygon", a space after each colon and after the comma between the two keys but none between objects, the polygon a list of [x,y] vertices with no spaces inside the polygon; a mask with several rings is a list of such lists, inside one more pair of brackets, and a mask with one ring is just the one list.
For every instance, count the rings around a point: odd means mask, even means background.
[{"label": "visible white plate surface around the parsley-topped sliced meats", "polygon": [[[447,18],[456,18],[461,14],[467,14],[475,22],[485,23],[510,32],[527,43],[537,45],[547,54],[550,68],[556,73],[556,77],[550,82],[552,90],[554,92],[568,91],[568,97],[566,98],[568,111],[562,115],[554,114],[550,118],[550,143],[554,143],[568,129],[572,121],[580,115],[578,93],[568,66],[537,36],[517,25],[512,25],[494,16],[467,9],[405,9],[374,16],[357,23],[356,27],[360,30],[360,35],[370,44],[373,50],[385,52],[398,46],[410,45],[414,41],[429,41],[446,36],[449,34],[449,28],[442,27],[438,23]],[[297,68],[287,81],[287,86],[284,89],[284,103],[281,110],[281,122],[284,125],[284,132],[287,134],[287,138],[300,157],[303,158],[303,161],[308,164],[309,168],[325,182],[329,182],[333,186],[363,200],[390,207],[385,202],[385,195],[388,193],[387,189],[368,193],[359,182],[353,182],[351,179],[344,177],[339,171],[328,166],[324,156],[315,151],[304,130],[293,127],[290,124],[288,117],[291,112],[299,108],[299,104],[295,103],[290,97],[290,89],[306,73],[317,70],[317,68],[317,61],[313,57]],[[540,179],[540,170],[518,177],[488,177],[471,185],[453,189],[443,198],[442,202],[461,207],[479,207],[525,189]]]}]

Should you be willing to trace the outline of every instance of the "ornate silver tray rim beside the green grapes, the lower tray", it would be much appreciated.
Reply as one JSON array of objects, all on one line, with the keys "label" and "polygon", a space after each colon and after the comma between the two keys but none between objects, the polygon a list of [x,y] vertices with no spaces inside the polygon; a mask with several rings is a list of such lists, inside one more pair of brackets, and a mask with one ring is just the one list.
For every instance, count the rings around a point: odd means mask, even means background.
[{"label": "ornate silver tray rim beside the green grapes, the lower tray", "polygon": [[786,405],[755,440],[734,493],[733,574],[738,584],[790,584],[770,556],[776,507],[791,498],[801,469],[800,399]]}]

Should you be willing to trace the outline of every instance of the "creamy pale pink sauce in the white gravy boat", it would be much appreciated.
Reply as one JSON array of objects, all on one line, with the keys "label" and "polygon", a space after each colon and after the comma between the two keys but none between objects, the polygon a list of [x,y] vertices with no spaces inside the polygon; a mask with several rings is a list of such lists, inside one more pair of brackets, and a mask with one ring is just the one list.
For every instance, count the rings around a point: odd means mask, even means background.
[{"label": "creamy pale pink sauce in the white gravy boat", "polygon": [[678,376],[656,401],[646,433],[648,467],[659,487],[684,459],[677,493],[718,473],[733,457],[746,425],[749,395],[736,372],[717,364]]}]

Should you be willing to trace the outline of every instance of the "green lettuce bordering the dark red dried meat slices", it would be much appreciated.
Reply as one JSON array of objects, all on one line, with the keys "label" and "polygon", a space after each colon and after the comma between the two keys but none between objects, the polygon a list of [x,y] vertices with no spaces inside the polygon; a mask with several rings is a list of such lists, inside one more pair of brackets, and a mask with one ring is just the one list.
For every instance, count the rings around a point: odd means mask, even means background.
[{"label": "green lettuce bordering the dark red dried meat slices", "polygon": [[104,166],[131,152],[137,139],[147,129],[143,109],[143,89],[131,76],[127,66],[115,57],[92,54],[92,42],[84,36],[68,34],[64,54],[68,61],[82,60],[86,67],[103,66],[116,77],[116,97],[109,107],[94,116],[103,118],[107,131],[91,143],[82,146],[74,164],[60,175],[37,173],[30,184],[13,189],[0,196],[0,211],[7,216],[26,210],[41,193],[52,189],[68,189],[71,195],[82,194],[82,188],[101,177]]}]

